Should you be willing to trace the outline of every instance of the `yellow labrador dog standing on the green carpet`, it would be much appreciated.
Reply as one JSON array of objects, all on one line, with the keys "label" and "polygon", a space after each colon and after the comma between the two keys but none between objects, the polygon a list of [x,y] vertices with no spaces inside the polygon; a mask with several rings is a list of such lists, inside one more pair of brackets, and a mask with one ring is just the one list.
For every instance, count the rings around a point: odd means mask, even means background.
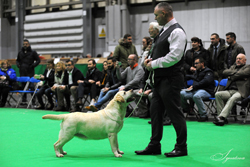
[{"label": "yellow labrador dog standing on the green carpet", "polygon": [[81,139],[99,140],[109,138],[115,157],[122,157],[118,148],[117,133],[122,129],[126,108],[133,101],[133,91],[120,91],[107,107],[95,113],[70,113],[61,115],[44,115],[43,119],[62,120],[59,139],[54,144],[57,157],[67,154],[63,146],[74,136]]}]

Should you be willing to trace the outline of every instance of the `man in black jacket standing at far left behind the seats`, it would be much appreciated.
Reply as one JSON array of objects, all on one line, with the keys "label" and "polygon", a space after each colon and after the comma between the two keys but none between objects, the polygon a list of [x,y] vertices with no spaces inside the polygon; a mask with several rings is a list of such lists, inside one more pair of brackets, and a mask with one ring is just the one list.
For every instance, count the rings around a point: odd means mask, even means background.
[{"label": "man in black jacket standing at far left behind the seats", "polygon": [[[35,67],[40,63],[40,58],[35,50],[31,49],[27,39],[23,40],[22,50],[18,53],[16,65],[19,68],[20,76],[33,77],[35,75]],[[25,83],[23,84],[23,87]],[[30,84],[30,89],[34,90],[34,84]],[[26,102],[26,94],[24,94],[22,103]]]}]

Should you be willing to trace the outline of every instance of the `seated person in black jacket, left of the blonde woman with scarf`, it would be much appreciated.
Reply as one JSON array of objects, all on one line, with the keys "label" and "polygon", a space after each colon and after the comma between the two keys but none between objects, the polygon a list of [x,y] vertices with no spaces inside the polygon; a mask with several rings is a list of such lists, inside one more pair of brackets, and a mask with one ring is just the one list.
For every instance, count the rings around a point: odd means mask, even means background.
[{"label": "seated person in black jacket, left of the blonde woman with scarf", "polygon": [[44,81],[42,87],[35,94],[35,97],[37,98],[38,103],[39,103],[36,109],[39,109],[39,110],[45,109],[42,96],[45,93],[46,89],[50,88],[54,84],[54,73],[55,73],[54,67],[55,65],[54,65],[53,60],[48,60],[47,68],[44,71],[43,75],[40,75],[38,77],[36,77],[36,75],[34,76],[37,79]]}]

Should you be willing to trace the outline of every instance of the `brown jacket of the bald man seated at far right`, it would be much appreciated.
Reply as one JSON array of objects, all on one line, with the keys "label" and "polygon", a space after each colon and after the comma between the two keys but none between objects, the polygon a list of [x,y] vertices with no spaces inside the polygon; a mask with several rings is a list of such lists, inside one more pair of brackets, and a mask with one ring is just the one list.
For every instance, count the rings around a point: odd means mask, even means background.
[{"label": "brown jacket of the bald man seated at far right", "polygon": [[229,69],[223,71],[223,75],[228,78],[227,89],[232,82],[236,82],[239,93],[243,98],[250,94],[250,65],[244,65],[239,70],[236,65],[232,65]]}]

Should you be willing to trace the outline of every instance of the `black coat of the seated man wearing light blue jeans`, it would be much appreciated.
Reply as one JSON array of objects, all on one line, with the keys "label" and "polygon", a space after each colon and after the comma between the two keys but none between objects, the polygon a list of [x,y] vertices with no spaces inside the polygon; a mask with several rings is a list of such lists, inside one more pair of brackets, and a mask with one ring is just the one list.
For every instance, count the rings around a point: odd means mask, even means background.
[{"label": "black coat of the seated man wearing light blue jeans", "polygon": [[186,75],[187,80],[194,80],[193,90],[204,89],[211,96],[214,96],[214,74],[210,68],[203,68],[201,70],[196,70],[194,75]]}]

